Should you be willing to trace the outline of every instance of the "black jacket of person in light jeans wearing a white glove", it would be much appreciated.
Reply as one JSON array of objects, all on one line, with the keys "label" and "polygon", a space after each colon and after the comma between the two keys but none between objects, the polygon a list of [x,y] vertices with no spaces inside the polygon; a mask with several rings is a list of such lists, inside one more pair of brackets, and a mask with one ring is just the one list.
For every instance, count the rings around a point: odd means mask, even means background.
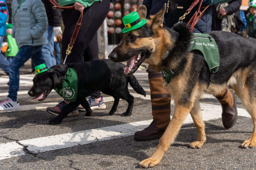
[{"label": "black jacket of person in light jeans wearing a white glove", "polygon": [[53,9],[52,4],[48,0],[42,0],[45,6],[48,25],[53,27],[61,27],[61,12],[60,9]]}]

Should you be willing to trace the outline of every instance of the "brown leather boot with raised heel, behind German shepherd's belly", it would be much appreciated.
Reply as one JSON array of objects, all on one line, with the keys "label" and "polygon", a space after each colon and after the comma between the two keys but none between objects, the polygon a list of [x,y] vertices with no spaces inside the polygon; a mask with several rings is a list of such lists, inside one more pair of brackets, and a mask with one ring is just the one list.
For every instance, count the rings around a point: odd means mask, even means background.
[{"label": "brown leather boot with raised heel, behind German shepherd's belly", "polygon": [[218,96],[215,96],[222,107],[222,124],[225,128],[231,128],[235,125],[237,120],[237,108],[236,108],[236,95],[226,88]]}]

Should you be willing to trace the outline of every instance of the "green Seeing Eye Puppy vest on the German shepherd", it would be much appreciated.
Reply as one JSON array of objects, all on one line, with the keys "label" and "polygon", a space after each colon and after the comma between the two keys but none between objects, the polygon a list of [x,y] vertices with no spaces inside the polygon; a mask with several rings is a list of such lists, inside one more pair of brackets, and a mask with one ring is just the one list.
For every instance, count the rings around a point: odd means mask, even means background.
[{"label": "green Seeing Eye Puppy vest on the German shepherd", "polygon": [[[199,50],[202,52],[211,73],[217,72],[220,66],[219,49],[215,40],[208,34],[193,33],[190,42],[189,51]],[[162,70],[163,77],[167,83],[170,83],[173,71]]]}]

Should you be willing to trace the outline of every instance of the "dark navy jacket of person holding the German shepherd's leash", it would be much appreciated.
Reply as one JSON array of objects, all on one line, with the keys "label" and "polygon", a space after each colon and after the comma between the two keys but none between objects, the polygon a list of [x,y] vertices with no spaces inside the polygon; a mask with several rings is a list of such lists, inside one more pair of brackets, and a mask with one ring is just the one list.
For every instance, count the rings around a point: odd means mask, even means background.
[{"label": "dark navy jacket of person holding the German shepherd's leash", "polygon": [[[166,7],[169,6],[168,12],[165,13],[165,26],[172,27],[175,23],[179,21],[179,18],[186,12],[194,0],[170,0],[169,3],[166,0],[143,0],[143,5],[147,8],[147,17],[156,14],[162,9],[164,3],[166,2]],[[204,5],[204,4],[203,4]],[[179,6],[179,8],[177,8]],[[188,22],[197,10],[198,5],[196,5],[189,15],[183,20],[183,22]],[[211,31],[212,25],[212,9],[208,9],[204,12],[201,19],[195,25],[193,33],[207,33]]]}]

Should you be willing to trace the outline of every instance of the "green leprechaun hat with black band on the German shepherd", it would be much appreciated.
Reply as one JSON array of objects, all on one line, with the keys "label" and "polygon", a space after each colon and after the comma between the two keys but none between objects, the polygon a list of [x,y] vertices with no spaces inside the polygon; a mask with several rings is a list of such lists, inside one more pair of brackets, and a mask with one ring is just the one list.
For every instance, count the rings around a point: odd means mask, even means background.
[{"label": "green leprechaun hat with black band on the German shepherd", "polygon": [[146,19],[140,19],[140,16],[137,12],[131,12],[123,17],[124,29],[122,33],[137,29],[146,24]]}]

